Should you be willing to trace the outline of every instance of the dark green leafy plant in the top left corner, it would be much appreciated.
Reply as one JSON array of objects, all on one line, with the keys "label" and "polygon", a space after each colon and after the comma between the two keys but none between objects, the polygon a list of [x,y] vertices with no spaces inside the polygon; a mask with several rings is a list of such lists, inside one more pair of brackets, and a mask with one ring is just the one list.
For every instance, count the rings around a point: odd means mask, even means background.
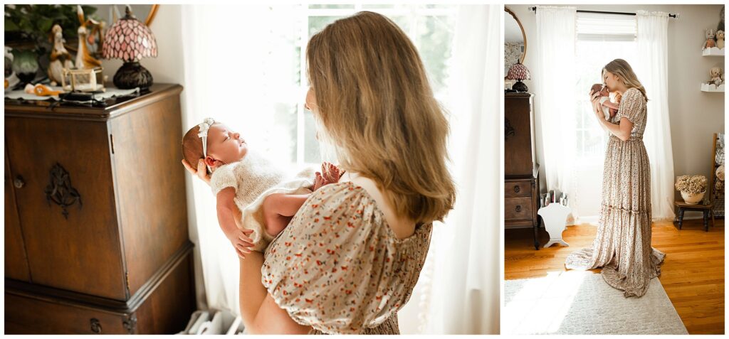
[{"label": "dark green leafy plant in the top left corner", "polygon": [[[96,7],[82,5],[86,17],[94,17]],[[78,36],[79,17],[76,5],[71,4],[11,4],[5,5],[5,41],[10,43],[31,42],[36,55],[50,52],[50,29],[61,25],[63,37]]]}]

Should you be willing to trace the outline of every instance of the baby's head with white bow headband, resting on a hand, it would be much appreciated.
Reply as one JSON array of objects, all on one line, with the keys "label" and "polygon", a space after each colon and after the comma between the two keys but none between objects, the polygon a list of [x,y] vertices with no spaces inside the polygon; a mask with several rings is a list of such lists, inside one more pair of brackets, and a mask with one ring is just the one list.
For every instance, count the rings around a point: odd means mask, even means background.
[{"label": "baby's head with white bow headband, resting on a hand", "polygon": [[[192,167],[197,166],[199,159],[205,159],[205,164],[211,170],[224,164],[241,161],[248,153],[248,144],[241,134],[212,119],[208,122],[212,124],[196,125],[182,137],[183,158]],[[201,127],[203,135],[207,132],[205,137],[200,137]],[[206,149],[203,149],[203,140],[206,141]]]}]

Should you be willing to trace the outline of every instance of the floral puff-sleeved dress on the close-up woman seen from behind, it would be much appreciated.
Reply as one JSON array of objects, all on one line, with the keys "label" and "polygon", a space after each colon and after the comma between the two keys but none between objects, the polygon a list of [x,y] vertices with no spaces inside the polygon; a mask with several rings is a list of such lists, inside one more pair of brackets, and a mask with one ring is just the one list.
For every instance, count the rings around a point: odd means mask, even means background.
[{"label": "floral puff-sleeved dress on the close-up woman seen from behind", "polygon": [[319,188],[265,251],[263,286],[312,334],[398,334],[432,223],[397,239],[364,188]]}]

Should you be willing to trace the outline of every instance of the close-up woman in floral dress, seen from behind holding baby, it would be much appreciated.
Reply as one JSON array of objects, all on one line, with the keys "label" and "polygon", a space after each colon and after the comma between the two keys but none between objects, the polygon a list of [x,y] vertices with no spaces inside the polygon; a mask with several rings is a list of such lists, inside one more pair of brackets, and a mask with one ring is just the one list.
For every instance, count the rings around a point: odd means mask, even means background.
[{"label": "close-up woman in floral dress, seen from behind holding baby", "polygon": [[[397,334],[432,222],[453,208],[448,121],[413,43],[382,15],[328,25],[306,60],[305,107],[345,174],[311,194],[265,253],[241,259],[243,322],[254,334]],[[204,162],[186,167],[209,180]]]}]

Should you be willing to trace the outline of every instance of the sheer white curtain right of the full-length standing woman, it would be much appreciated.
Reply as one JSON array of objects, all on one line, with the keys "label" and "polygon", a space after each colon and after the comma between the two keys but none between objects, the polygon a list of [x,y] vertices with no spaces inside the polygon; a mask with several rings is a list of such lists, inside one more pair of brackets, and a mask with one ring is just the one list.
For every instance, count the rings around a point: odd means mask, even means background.
[{"label": "sheer white curtain right of the full-length standing woman", "polygon": [[674,218],[674,156],[668,116],[668,13],[638,11],[636,75],[648,96],[643,136],[650,159],[650,196],[654,220]]}]

